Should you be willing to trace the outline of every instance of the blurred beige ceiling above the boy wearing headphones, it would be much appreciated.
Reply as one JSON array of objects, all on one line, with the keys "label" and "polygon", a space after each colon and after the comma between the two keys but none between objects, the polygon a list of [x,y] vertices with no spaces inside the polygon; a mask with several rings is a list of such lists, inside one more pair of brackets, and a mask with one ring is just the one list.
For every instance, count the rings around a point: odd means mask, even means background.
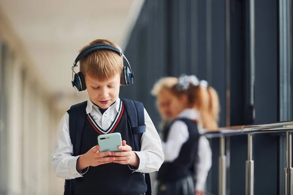
[{"label": "blurred beige ceiling above the boy wearing headphones", "polygon": [[1,0],[0,8],[47,90],[67,109],[81,101],[70,82],[78,51],[93,39],[110,39],[124,48],[143,2]]}]

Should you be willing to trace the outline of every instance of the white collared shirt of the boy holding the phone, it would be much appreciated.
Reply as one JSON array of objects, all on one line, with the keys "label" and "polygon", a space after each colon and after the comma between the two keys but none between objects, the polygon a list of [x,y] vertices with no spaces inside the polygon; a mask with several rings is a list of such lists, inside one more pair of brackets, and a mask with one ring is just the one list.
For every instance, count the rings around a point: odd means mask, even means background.
[{"label": "white collared shirt of the boy holding the phone", "polygon": [[[90,114],[96,124],[106,130],[115,120],[119,112],[121,100],[118,98],[102,115],[99,108],[91,100],[87,100],[86,114]],[[141,151],[134,151],[140,159],[136,172],[151,173],[158,171],[164,161],[162,145],[157,130],[145,109],[146,132],[141,139]],[[57,130],[57,145],[52,154],[52,167],[58,177],[74,179],[86,173],[76,170],[79,156],[73,155],[73,146],[69,136],[69,114],[66,112]]]}]

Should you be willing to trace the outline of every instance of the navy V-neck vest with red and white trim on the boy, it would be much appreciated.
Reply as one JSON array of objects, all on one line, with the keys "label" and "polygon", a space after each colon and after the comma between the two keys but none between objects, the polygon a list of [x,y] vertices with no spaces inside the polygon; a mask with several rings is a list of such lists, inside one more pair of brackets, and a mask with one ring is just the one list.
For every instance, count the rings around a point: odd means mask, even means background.
[{"label": "navy V-neck vest with red and white trim on the boy", "polygon": [[[123,113],[122,113],[123,112]],[[81,143],[81,154],[86,153],[98,144],[97,137],[105,132],[87,115]],[[122,108],[118,113],[108,133],[119,132],[126,144],[134,148],[131,125],[127,114]],[[75,179],[75,195],[141,195],[146,193],[147,186],[142,173],[134,172],[128,165],[109,163],[89,167],[83,177]]]}]

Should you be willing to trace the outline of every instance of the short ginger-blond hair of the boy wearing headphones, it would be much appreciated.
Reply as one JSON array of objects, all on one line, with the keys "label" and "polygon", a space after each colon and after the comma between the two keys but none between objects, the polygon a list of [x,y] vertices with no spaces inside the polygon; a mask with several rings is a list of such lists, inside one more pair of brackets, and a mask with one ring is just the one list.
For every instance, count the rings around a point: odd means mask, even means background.
[{"label": "short ginger-blond hair of the boy wearing headphones", "polygon": [[[106,39],[96,39],[85,45],[81,51],[86,47],[97,43],[109,44],[122,51],[118,45]],[[122,56],[111,50],[93,51],[80,60],[80,71],[84,74],[84,77],[87,75],[100,81],[114,78],[117,74],[121,74],[122,69]]]}]

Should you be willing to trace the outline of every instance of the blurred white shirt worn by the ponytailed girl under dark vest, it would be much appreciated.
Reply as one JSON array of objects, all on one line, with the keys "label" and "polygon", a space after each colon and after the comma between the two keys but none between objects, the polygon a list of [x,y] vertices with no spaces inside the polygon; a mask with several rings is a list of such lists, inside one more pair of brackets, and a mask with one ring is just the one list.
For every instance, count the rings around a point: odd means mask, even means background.
[{"label": "blurred white shirt worn by the ponytailed girl under dark vest", "polygon": [[[194,120],[199,118],[199,112],[194,109],[186,109],[178,117]],[[199,133],[203,133],[201,128],[199,128]],[[171,125],[166,142],[162,141],[165,162],[173,162],[179,156],[181,147],[188,140],[188,137],[188,127],[183,121],[177,120]],[[204,190],[210,167],[211,149],[209,141],[206,137],[201,136],[198,140],[198,162],[195,164],[197,170],[195,176],[196,190]]]}]

